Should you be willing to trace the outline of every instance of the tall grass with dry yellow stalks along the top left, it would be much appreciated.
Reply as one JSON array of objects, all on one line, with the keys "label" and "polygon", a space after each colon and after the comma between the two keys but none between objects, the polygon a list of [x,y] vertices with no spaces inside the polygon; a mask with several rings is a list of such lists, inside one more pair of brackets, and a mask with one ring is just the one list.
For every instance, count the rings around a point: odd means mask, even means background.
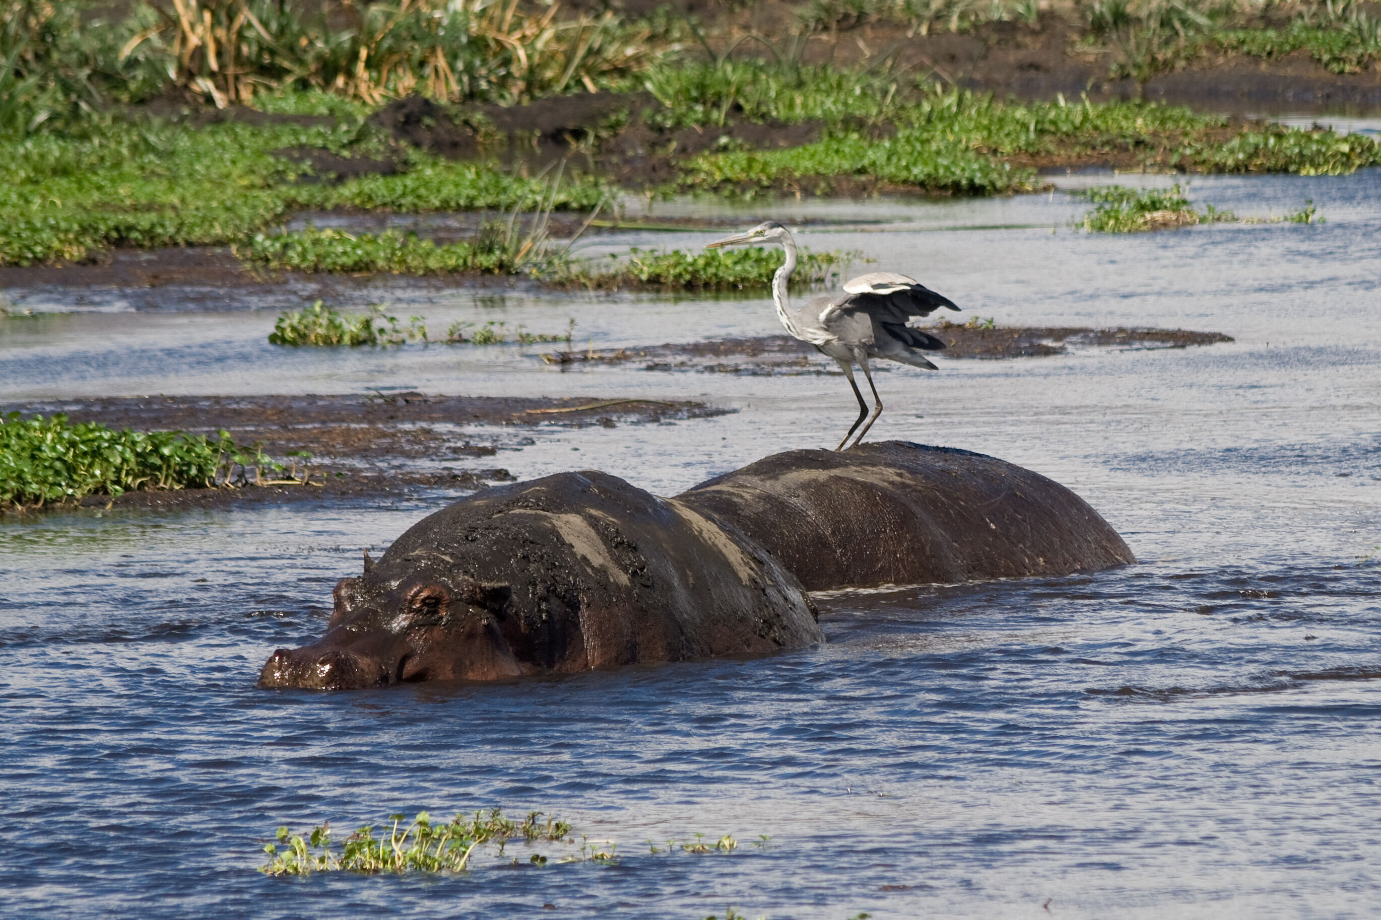
[{"label": "tall grass with dry yellow stalks along the top left", "polygon": [[[677,47],[677,21],[559,0],[0,0],[0,130],[28,134],[181,88],[218,108],[325,90],[369,105],[423,92],[514,103],[594,91]],[[116,8],[116,7],[101,7]]]}]

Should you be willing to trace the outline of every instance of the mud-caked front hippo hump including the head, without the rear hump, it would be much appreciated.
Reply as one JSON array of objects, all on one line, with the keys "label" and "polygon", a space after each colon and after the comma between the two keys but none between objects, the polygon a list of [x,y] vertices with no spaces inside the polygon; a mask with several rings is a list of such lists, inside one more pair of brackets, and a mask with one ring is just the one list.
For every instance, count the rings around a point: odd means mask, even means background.
[{"label": "mud-caked front hippo hump including the head, without the rear hump", "polygon": [[598,472],[485,490],[336,586],[325,636],[260,686],[499,680],[822,641],[801,583],[743,537]]}]

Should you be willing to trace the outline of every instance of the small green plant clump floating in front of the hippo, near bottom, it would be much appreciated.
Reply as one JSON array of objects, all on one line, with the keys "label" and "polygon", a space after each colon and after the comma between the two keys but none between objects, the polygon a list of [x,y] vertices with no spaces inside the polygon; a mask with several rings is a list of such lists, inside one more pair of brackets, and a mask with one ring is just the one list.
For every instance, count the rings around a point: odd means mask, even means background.
[{"label": "small green plant clump floating in front of the hippo, near bottom", "polygon": [[[337,855],[331,848],[330,823],[319,825],[309,833],[294,834],[289,828],[278,829],[278,843],[264,846],[269,861],[260,872],[269,876],[309,876],[315,872],[356,872],[362,874],[407,872],[464,872],[478,847],[504,846],[515,836],[528,843],[557,841],[570,833],[570,825],[533,811],[518,823],[503,817],[499,808],[476,811],[472,817],[457,814],[449,823],[434,825],[423,811],[412,823],[402,814],[388,817],[392,826],[388,836],[374,836],[374,826],[365,825],[345,839]],[[282,844],[282,850],[279,848]],[[540,857],[533,855],[533,862]],[[545,859],[541,859],[545,862]]]}]

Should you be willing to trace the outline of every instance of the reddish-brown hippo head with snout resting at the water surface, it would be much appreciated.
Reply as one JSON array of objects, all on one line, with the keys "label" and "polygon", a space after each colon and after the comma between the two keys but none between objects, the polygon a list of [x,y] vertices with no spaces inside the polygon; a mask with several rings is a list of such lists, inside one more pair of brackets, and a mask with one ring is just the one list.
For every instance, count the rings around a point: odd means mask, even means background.
[{"label": "reddish-brown hippo head with snout resting at the water surface", "polygon": [[260,687],[352,690],[418,680],[496,680],[522,674],[501,623],[510,589],[450,566],[374,566],[336,585],[336,607],[320,640],[279,648]]}]

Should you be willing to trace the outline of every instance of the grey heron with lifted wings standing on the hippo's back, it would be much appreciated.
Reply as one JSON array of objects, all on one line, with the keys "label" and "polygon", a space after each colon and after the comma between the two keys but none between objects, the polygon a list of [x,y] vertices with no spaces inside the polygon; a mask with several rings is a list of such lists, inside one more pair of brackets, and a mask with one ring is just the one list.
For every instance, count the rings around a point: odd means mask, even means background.
[{"label": "grey heron with lifted wings standing on the hippo's back", "polygon": [[[786,262],[772,276],[772,302],[776,303],[778,319],[787,332],[802,342],[809,342],[844,368],[844,377],[848,378],[853,396],[859,400],[859,417],[834,450],[844,450],[849,437],[867,418],[867,425],[863,425],[863,430],[853,440],[852,446],[858,446],[882,414],[882,397],[877,394],[877,386],[873,383],[869,359],[885,357],[911,367],[939,370],[925,360],[921,352],[939,350],[945,348],[945,342],[911,328],[906,321],[913,316],[929,316],[942,306],[952,310],[958,308],[913,277],[894,272],[869,272],[845,281],[842,292],[811,298],[801,309],[793,310],[786,286],[791,272],[795,270],[795,240],[791,239],[791,232],[776,221],[764,221],[751,230],[715,240],[706,248],[771,241],[780,243],[786,250]],[[863,393],[853,379],[853,364],[863,368],[863,377],[873,390],[876,406],[871,417],[867,403],[863,401]]]}]

